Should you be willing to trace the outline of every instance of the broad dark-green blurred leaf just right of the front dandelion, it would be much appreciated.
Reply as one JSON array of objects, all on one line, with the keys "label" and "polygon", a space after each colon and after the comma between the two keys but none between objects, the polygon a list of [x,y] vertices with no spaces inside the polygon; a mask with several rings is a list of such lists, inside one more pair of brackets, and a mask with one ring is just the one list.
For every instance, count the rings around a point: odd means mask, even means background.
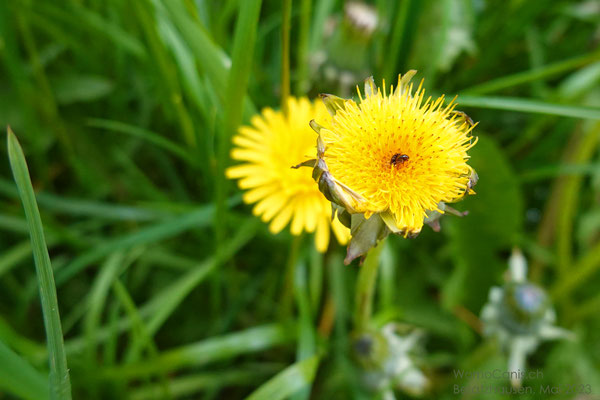
[{"label": "broad dark-green blurred leaf just right of the front dandelion", "polygon": [[470,155],[469,163],[479,175],[477,194],[457,205],[469,214],[441,220],[456,262],[442,298],[446,307],[462,304],[478,313],[490,286],[500,283],[500,275],[507,268],[507,260],[500,259],[498,253],[516,242],[524,206],[517,177],[495,142],[480,136]]}]

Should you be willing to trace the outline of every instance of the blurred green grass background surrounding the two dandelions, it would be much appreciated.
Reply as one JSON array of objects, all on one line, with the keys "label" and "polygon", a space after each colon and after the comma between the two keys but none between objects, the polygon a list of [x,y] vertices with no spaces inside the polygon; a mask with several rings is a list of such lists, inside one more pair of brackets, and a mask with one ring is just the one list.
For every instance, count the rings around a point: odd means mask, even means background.
[{"label": "blurred green grass background surrounding the two dandelions", "polygon": [[[466,218],[387,240],[373,329],[424,332],[424,398],[505,398],[454,394],[469,381],[453,370],[506,368],[478,315],[519,247],[557,325],[576,334],[541,345],[528,366],[543,378],[524,384],[590,385],[553,397],[599,398],[600,2],[370,7],[0,1],[0,126],[21,142],[36,192],[73,398],[392,398],[362,385],[353,361],[361,267],[343,266],[335,243],[320,255],[308,236],[270,235],[223,170],[237,127],[277,108],[288,76],[294,95],[351,96],[369,75],[409,69],[479,121],[480,182],[456,206]],[[43,399],[56,380],[32,228],[1,160],[0,398]]]}]

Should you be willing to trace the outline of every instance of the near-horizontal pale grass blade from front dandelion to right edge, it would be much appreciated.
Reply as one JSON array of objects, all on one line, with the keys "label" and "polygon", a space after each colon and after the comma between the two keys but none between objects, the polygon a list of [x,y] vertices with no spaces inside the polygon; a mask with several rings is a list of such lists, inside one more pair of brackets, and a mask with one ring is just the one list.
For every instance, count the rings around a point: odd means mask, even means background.
[{"label": "near-horizontal pale grass blade from front dandelion to right edge", "polygon": [[491,108],[496,110],[509,110],[534,114],[549,114],[559,115],[562,117],[600,120],[600,108],[597,107],[569,106],[564,104],[547,103],[539,100],[521,99],[518,97],[461,95],[458,98],[458,103],[461,106],[475,108]]}]

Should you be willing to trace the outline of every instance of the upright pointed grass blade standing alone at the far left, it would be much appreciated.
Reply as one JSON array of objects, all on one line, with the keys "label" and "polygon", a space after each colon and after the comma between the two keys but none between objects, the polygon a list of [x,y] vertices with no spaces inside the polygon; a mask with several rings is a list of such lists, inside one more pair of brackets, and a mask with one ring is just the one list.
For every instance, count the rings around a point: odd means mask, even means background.
[{"label": "upright pointed grass blade standing alone at the far left", "polygon": [[42,313],[48,342],[48,358],[50,362],[50,398],[57,400],[71,399],[71,380],[67,368],[60,315],[58,312],[58,299],[50,255],[44,237],[42,218],[35,201],[35,194],[25,155],[10,128],[8,128],[8,158],[13,171],[15,182],[19,190],[21,202],[25,209],[25,217],[29,226],[33,258],[35,260],[36,274],[39,281]]}]

